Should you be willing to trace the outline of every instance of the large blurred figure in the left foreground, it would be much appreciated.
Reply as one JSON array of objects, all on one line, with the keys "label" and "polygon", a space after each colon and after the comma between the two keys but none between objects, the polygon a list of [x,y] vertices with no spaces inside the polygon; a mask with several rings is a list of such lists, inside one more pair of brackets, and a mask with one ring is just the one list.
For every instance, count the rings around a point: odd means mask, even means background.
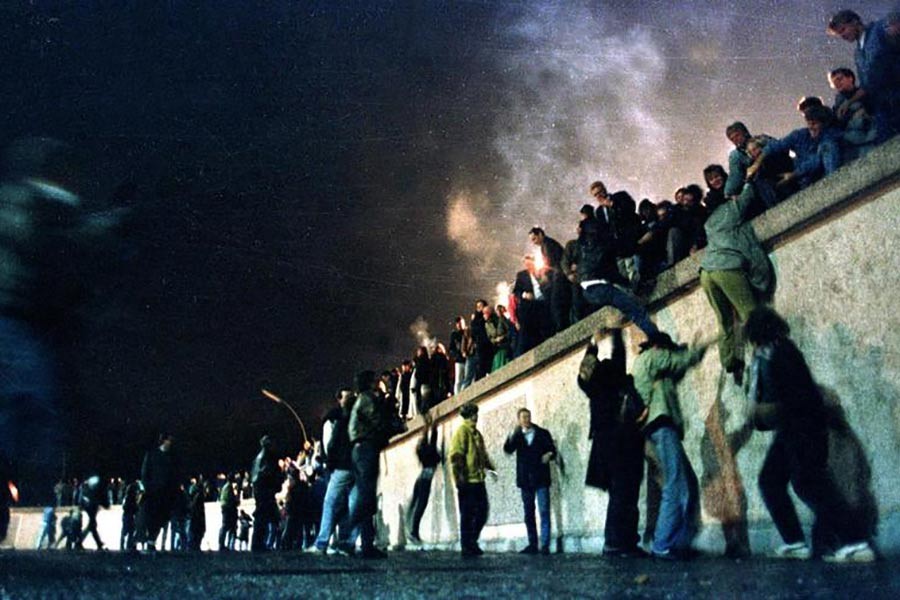
[{"label": "large blurred figure in the left foreground", "polygon": [[[0,185],[0,460],[25,503],[53,489],[60,453],[57,350],[72,333],[81,271],[107,216],[78,195],[72,148],[27,138],[7,151]],[[5,482],[4,482],[5,484]],[[47,498],[49,503],[50,498]]]}]

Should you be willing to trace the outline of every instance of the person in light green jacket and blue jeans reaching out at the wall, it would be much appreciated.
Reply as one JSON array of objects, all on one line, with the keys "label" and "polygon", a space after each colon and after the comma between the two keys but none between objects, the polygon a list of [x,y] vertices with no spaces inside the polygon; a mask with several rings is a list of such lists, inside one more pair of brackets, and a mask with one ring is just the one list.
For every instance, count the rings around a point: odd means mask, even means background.
[{"label": "person in light green jacket and blue jeans reaching out at the wall", "polygon": [[644,435],[662,466],[664,481],[651,552],[657,558],[689,558],[697,533],[700,491],[697,476],[681,440],[684,419],[676,382],[703,359],[707,344],[694,349],[678,346],[668,335],[656,334],[641,344],[634,361],[634,386],[647,406]]}]

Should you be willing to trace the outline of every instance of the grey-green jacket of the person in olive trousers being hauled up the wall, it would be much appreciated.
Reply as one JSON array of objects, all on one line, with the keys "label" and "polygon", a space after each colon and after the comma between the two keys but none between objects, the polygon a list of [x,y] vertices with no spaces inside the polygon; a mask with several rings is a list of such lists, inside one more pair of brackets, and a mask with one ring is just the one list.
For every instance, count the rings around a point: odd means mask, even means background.
[{"label": "grey-green jacket of the person in olive trousers being hauled up the wall", "polygon": [[743,271],[750,285],[765,294],[772,288],[772,265],[753,226],[746,221],[753,198],[753,186],[745,186],[740,196],[709,215],[704,225],[707,245],[700,268],[704,271]]}]

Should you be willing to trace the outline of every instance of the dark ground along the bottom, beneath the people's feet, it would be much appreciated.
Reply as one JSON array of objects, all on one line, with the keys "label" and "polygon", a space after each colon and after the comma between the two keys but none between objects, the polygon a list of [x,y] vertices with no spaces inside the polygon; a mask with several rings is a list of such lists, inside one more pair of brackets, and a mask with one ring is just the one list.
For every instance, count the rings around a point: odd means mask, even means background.
[{"label": "dark ground along the bottom, beneath the people's feet", "polygon": [[0,598],[900,598],[900,561],[0,552]]}]

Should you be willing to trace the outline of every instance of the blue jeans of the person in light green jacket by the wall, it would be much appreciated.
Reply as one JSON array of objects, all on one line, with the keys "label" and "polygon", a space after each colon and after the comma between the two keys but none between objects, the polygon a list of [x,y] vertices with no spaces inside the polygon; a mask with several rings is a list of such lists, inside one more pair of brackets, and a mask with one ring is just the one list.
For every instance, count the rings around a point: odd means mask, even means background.
[{"label": "blue jeans of the person in light green jacket by the wall", "polygon": [[652,550],[656,554],[687,550],[697,534],[700,508],[697,476],[674,427],[663,425],[650,434],[650,441],[664,478]]}]

